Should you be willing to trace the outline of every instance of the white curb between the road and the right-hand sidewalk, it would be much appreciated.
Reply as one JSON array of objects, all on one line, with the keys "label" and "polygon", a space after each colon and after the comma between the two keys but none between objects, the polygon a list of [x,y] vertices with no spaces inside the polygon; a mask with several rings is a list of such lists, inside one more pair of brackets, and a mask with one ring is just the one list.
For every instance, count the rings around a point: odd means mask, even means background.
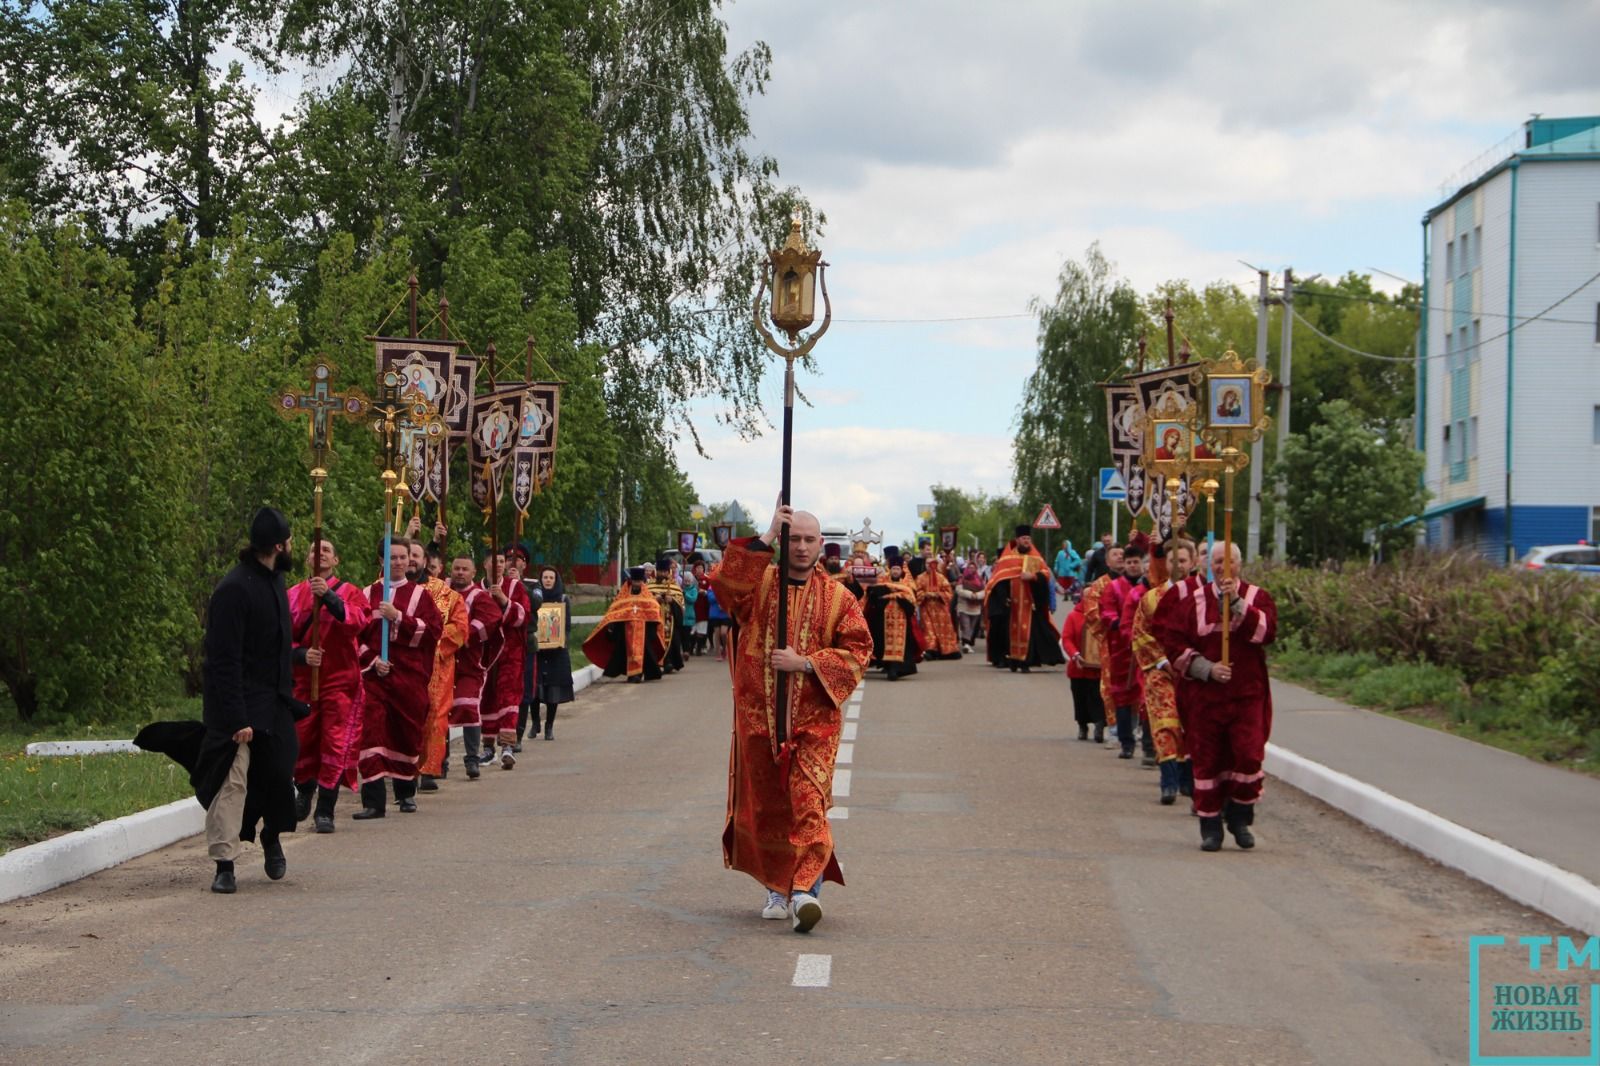
[{"label": "white curb between the road and the right-hand sidewalk", "polygon": [[1262,765],[1285,784],[1338,807],[1408,848],[1459,869],[1589,936],[1600,936],[1600,887],[1578,874],[1458,826],[1286,747],[1267,744]]}]

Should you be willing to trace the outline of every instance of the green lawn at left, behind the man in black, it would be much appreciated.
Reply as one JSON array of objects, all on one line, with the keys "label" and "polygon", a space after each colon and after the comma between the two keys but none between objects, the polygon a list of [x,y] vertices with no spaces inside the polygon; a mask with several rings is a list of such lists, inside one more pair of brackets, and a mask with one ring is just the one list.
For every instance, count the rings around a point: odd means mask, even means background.
[{"label": "green lawn at left, behind the man in black", "polygon": [[27,744],[131,739],[162,719],[197,719],[200,701],[173,698],[147,715],[18,722],[0,701],[0,853],[194,795],[189,775],[166,755],[30,757]]}]

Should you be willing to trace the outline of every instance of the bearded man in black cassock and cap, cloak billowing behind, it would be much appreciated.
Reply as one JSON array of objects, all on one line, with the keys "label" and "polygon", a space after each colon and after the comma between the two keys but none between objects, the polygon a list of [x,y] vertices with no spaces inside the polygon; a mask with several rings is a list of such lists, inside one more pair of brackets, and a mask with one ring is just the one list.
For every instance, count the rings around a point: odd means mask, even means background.
[{"label": "bearded man in black cassock and cap, cloak billowing behind", "polygon": [[262,507],[250,523],[250,546],[211,592],[206,608],[205,698],[200,722],[155,722],[134,744],[189,770],[205,807],[206,852],[216,863],[211,892],[238,890],[238,842],[256,839],[267,877],[288,872],[278,834],[294,832],[293,635],[283,575],[291,567],[290,522]]}]

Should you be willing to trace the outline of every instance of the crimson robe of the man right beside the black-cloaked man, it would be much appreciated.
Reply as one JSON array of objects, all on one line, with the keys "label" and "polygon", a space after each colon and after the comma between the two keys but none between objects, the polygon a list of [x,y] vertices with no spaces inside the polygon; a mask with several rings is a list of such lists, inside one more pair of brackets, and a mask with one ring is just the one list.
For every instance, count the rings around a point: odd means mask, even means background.
[{"label": "crimson robe of the man right beside the black-cloaked man", "polygon": [[[322,611],[322,669],[317,672],[317,699],[310,698],[310,667],[294,666],[294,698],[310,704],[310,714],[294,723],[299,759],[294,781],[315,781],[325,789],[339,787],[350,768],[350,747],[358,739],[362,712],[360,635],[366,627],[371,605],[349,581],[331,578],[328,587],[344,605],[344,618],[317,605]],[[294,647],[310,647],[312,619],[310,581],[290,589],[290,623]]]}]

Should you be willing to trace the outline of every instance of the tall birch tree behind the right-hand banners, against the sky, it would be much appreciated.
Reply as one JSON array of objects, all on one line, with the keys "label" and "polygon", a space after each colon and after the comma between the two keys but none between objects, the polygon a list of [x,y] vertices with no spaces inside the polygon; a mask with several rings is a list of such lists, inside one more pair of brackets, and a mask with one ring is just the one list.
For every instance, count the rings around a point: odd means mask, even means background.
[{"label": "tall birch tree behind the right-hand banners, against the sky", "polygon": [[1035,311],[1038,365],[1022,387],[1013,445],[1019,514],[1030,519],[1048,503],[1064,528],[1086,530],[1096,472],[1110,464],[1098,386],[1131,370],[1139,296],[1091,245],[1082,262],[1061,267],[1054,299]]}]

